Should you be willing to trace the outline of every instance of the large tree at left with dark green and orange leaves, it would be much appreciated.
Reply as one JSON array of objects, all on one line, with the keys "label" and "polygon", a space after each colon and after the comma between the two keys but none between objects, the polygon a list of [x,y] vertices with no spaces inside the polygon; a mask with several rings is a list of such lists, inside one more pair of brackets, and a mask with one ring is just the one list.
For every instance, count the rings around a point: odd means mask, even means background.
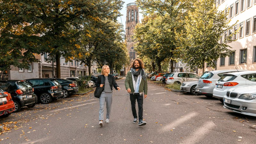
[{"label": "large tree at left with dark green and orange leaves", "polygon": [[116,20],[122,5],[121,0],[2,0],[0,54],[8,56],[1,62],[23,67],[35,61],[32,52],[49,53],[60,78],[60,56],[68,59],[80,51],[78,36],[86,24]]}]

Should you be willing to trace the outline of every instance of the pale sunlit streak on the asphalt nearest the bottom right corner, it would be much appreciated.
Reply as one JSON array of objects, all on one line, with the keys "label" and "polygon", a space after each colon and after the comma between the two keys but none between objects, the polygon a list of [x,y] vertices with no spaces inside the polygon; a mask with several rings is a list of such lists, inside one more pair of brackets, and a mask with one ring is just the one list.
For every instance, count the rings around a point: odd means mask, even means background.
[{"label": "pale sunlit streak on the asphalt nearest the bottom right corner", "polygon": [[214,126],[216,126],[216,124],[214,124],[212,121],[206,122],[202,127],[198,128],[195,132],[192,132],[192,135],[183,143],[198,143],[199,140],[202,139],[204,135],[207,134]]}]

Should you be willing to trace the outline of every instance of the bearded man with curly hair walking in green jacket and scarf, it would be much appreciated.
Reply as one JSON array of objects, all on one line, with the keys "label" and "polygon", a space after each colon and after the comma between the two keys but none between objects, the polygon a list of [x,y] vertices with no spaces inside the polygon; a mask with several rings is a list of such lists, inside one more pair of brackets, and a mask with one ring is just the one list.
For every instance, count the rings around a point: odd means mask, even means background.
[{"label": "bearded man with curly hair walking in green jacket and scarf", "polygon": [[138,102],[139,108],[139,126],[147,124],[143,121],[143,92],[144,99],[147,97],[148,93],[148,82],[146,78],[146,73],[144,71],[144,64],[142,60],[135,59],[131,63],[131,70],[127,73],[125,78],[125,88],[127,92],[130,93],[130,100],[132,104],[132,115],[133,123],[136,124],[138,121],[138,116],[135,108],[136,100]]}]

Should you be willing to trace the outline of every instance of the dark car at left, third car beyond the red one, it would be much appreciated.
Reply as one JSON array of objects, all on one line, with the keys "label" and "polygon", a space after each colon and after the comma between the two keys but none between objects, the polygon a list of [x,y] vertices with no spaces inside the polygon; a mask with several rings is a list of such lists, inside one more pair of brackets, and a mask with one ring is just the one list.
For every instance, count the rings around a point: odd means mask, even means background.
[{"label": "dark car at left, third car beyond the red one", "polygon": [[70,94],[74,94],[78,92],[78,86],[76,81],[63,79],[63,78],[56,78],[56,80],[62,86],[62,90],[64,92],[64,96],[62,98],[68,98]]}]

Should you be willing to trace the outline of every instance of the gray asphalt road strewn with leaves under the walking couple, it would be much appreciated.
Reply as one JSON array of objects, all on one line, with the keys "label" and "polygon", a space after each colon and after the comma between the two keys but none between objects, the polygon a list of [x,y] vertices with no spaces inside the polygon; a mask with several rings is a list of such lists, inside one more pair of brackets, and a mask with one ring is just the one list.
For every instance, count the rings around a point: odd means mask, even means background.
[{"label": "gray asphalt road strewn with leaves under the walking couple", "polygon": [[99,100],[93,93],[72,96],[0,119],[9,129],[0,143],[255,143],[255,117],[229,111],[217,99],[170,92],[151,81],[143,104],[147,124],[133,124],[124,79],[117,84],[121,90],[114,90],[110,123],[99,125]]}]

